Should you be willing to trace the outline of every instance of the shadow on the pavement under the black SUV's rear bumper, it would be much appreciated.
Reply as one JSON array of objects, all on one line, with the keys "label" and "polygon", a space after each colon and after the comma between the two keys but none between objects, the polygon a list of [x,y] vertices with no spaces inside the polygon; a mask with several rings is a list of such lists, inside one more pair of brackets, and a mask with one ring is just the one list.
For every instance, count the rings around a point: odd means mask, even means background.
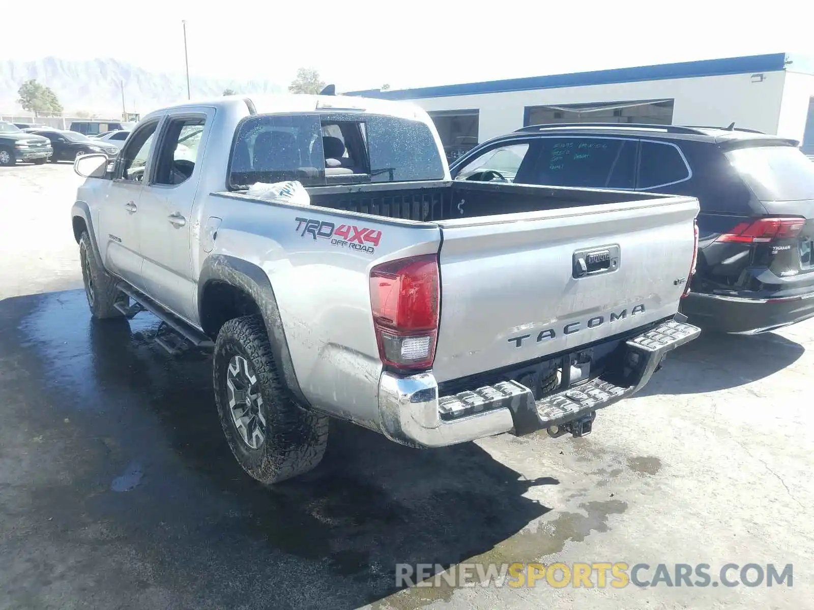
[{"label": "shadow on the pavement under the black SUV's rear bumper", "polygon": [[667,355],[663,368],[637,395],[701,394],[758,381],[786,368],[805,347],[776,333],[702,333]]}]

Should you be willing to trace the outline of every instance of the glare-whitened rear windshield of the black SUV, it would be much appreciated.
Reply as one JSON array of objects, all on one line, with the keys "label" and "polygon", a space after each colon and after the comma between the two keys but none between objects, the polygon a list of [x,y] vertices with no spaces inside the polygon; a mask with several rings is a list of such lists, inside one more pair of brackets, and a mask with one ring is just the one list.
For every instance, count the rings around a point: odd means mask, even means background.
[{"label": "glare-whitened rear windshield of the black SUV", "polygon": [[814,162],[794,146],[751,146],[726,158],[760,201],[814,199]]}]

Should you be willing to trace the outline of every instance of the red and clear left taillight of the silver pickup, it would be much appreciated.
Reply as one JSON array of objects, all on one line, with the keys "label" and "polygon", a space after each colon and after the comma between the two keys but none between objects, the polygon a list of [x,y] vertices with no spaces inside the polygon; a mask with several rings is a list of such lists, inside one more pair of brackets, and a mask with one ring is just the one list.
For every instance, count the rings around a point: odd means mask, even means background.
[{"label": "red and clear left taillight of the silver pickup", "polygon": [[413,256],[370,270],[370,306],[379,358],[396,368],[430,368],[438,333],[436,255]]}]

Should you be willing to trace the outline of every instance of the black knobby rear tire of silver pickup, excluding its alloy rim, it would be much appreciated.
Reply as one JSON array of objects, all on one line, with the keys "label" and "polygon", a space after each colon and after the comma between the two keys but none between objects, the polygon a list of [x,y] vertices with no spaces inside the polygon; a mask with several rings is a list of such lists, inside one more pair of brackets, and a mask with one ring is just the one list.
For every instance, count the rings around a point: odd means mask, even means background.
[{"label": "black knobby rear tire of silver pickup, excluding its alloy rim", "polygon": [[[227,375],[230,360],[242,356],[257,378],[265,420],[265,440],[252,449],[239,434],[230,410]],[[250,476],[265,484],[307,473],[325,454],[328,418],[299,407],[282,386],[269,335],[260,316],[243,316],[221,327],[212,357],[212,383],[221,427],[229,447]]]}]

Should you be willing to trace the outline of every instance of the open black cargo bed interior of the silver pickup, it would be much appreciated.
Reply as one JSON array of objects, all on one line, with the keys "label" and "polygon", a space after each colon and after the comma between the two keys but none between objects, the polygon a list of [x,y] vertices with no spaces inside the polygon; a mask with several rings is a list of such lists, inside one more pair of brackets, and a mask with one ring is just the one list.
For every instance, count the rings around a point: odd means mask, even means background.
[{"label": "open black cargo bed interior of the silver pickup", "polygon": [[314,206],[422,222],[665,197],[627,191],[466,181],[317,186],[307,190]]}]

